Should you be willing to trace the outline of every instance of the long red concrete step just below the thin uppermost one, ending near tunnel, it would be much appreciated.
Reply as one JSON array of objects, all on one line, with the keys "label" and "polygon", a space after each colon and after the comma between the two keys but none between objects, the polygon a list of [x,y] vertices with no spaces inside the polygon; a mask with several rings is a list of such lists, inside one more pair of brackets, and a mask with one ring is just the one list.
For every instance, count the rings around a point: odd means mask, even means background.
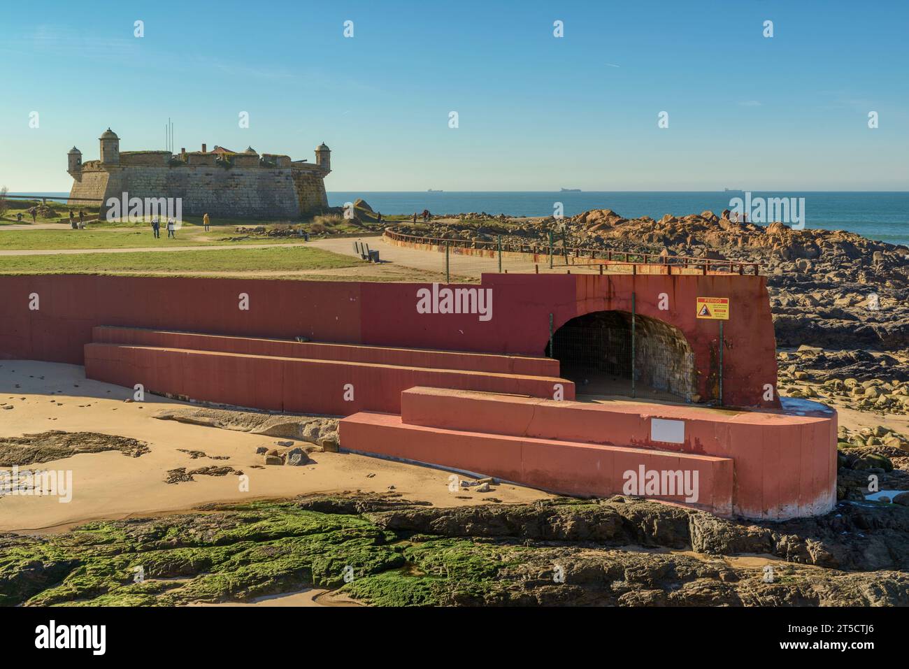
[{"label": "long red concrete step just below the thin uppermost one, ending near tunnel", "polygon": [[[544,376],[125,344],[85,344],[85,376],[205,402],[331,415],[367,409],[398,413],[401,393],[415,385],[551,396],[559,383],[565,396],[574,398],[574,384]],[[345,399],[345,384],[353,385],[353,401]]]}]

